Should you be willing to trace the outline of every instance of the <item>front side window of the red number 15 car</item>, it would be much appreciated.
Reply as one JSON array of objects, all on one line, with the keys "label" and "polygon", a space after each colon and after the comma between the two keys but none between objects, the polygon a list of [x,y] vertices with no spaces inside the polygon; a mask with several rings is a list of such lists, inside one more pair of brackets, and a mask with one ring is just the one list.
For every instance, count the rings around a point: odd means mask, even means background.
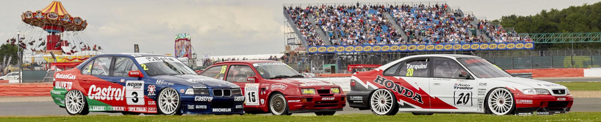
[{"label": "front side window of the red number 15 car", "polygon": [[251,67],[243,65],[232,65],[228,70],[226,81],[230,82],[247,82],[248,77],[254,77],[255,72]]}]

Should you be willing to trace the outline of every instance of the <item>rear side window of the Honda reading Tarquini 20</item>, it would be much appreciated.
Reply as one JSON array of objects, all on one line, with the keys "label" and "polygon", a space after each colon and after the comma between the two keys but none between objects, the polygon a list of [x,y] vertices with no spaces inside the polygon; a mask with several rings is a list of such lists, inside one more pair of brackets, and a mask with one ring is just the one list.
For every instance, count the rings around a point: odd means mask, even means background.
[{"label": "rear side window of the Honda reading Tarquini 20", "polygon": [[398,75],[405,77],[428,77],[428,63],[430,63],[430,59],[410,60],[401,67]]}]

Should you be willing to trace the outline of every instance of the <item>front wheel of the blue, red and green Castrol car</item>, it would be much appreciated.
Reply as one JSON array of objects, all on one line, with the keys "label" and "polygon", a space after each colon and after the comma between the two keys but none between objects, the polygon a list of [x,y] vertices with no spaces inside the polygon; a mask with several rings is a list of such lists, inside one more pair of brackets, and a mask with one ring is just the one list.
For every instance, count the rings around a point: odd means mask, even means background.
[{"label": "front wheel of the blue, red and green Castrol car", "polygon": [[159,114],[182,115],[180,112],[180,94],[173,88],[165,88],[160,91],[156,104]]}]

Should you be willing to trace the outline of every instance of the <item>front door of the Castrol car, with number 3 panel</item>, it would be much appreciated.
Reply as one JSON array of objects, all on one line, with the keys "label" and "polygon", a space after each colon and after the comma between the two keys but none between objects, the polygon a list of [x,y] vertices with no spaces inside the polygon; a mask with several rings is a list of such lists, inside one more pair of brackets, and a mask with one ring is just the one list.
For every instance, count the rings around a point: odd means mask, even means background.
[{"label": "front door of the Castrol car, with number 3 panel", "polygon": [[[129,77],[129,71],[139,71],[138,66],[129,57],[115,57],[115,63],[113,65],[112,77],[110,78],[111,83],[120,84],[126,86],[126,94],[124,101],[113,102],[114,106],[128,106],[128,105],[145,105],[146,98],[148,96],[156,96],[156,89],[153,84],[139,80],[136,77]],[[137,84],[136,86],[127,86],[127,83],[143,83]],[[146,89],[146,90],[145,90]],[[156,105],[156,103],[150,103]]]}]

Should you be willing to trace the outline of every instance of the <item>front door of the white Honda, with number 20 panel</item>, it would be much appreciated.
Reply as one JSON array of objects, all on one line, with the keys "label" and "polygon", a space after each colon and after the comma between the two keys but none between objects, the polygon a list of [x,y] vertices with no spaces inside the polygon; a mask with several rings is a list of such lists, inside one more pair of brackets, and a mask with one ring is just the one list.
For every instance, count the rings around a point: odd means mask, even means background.
[{"label": "front door of the white Honda, with number 20 panel", "polygon": [[477,109],[477,81],[459,63],[447,57],[436,57],[432,63],[430,95],[444,103],[432,104],[433,109]]}]

